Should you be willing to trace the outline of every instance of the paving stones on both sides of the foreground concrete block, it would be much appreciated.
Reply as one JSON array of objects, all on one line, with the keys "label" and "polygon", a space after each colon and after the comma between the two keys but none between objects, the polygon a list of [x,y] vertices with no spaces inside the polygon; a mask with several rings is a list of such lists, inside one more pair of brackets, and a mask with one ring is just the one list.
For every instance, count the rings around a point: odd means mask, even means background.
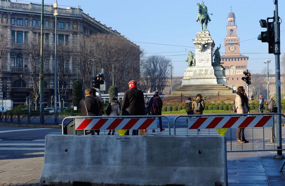
[{"label": "paving stones on both sides of the foreground concrete block", "polygon": [[[265,149],[274,148],[269,141],[266,143]],[[263,149],[261,141],[244,143],[243,149],[252,149],[253,146],[254,149]],[[227,149],[230,147],[228,142]],[[241,148],[240,143],[232,143],[232,150]],[[273,159],[275,154],[276,151],[228,152],[228,186],[285,186],[285,169],[279,172],[285,160]],[[12,154],[0,151],[0,186],[39,185],[43,164],[42,151],[13,151]]]}]

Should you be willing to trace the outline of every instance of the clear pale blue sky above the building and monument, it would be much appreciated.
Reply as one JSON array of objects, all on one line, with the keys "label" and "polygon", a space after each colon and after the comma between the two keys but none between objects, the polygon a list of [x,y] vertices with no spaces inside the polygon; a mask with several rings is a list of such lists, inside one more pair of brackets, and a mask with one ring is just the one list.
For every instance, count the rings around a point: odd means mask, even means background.
[{"label": "clear pale blue sky above the building and monument", "polygon": [[[15,0],[12,0],[15,2]],[[18,1],[29,3],[30,1]],[[40,0],[31,2],[41,3]],[[187,67],[185,58],[194,51],[192,39],[200,31],[197,18],[197,0],[58,0],[59,7],[81,6],[84,13],[95,17],[97,21],[112,27],[121,35],[140,46],[145,56],[159,55],[170,58],[173,64],[172,76],[183,76]],[[45,4],[53,4],[55,0],[45,0]],[[216,47],[221,44],[220,54],[224,54],[224,38],[227,35],[227,16],[231,11],[235,13],[237,34],[240,37],[240,54],[248,56],[248,70],[251,73],[261,73],[265,60],[271,60],[269,69],[275,73],[275,56],[268,54],[268,44],[257,40],[261,31],[266,31],[259,24],[260,19],[273,17],[275,5],[272,0],[204,0],[208,7],[211,21],[208,30]],[[278,1],[279,17],[285,21],[285,0]],[[285,53],[285,26],[280,25],[281,56]],[[150,44],[156,43],[156,44]],[[162,45],[163,44],[163,45]],[[175,45],[175,46],[171,46]],[[283,53],[283,54],[282,54]],[[282,60],[282,59],[280,59]],[[281,68],[282,69],[282,68]],[[281,73],[285,73],[281,71]]]}]

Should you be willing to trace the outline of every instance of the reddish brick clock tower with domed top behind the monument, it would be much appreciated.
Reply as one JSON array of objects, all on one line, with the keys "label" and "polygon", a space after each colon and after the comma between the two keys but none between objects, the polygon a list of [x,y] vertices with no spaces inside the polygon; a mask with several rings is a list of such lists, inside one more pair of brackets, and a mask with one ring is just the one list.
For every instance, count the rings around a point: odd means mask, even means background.
[{"label": "reddish brick clock tower with domed top behind the monument", "polygon": [[227,84],[246,87],[246,83],[241,80],[243,71],[247,69],[248,57],[240,54],[240,38],[237,34],[234,12],[228,14],[227,37],[224,38],[225,54],[221,56],[221,62],[226,68]]}]

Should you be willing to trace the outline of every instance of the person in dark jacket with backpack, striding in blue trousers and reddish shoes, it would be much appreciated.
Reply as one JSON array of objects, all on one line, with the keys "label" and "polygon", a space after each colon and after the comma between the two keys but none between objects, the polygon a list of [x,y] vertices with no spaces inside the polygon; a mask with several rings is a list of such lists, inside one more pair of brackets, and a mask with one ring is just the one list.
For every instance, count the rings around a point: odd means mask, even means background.
[{"label": "person in dark jacket with backpack, striding in blue trousers and reddish shoes", "polygon": [[[149,101],[150,110],[148,111],[148,115],[161,115],[161,109],[162,109],[162,100],[160,96],[158,95],[158,91],[156,90],[154,92],[153,97]],[[165,129],[162,128],[162,119],[161,117],[158,118],[159,121],[159,129],[160,132],[164,131]],[[152,130],[152,132],[155,132],[155,130]]]}]

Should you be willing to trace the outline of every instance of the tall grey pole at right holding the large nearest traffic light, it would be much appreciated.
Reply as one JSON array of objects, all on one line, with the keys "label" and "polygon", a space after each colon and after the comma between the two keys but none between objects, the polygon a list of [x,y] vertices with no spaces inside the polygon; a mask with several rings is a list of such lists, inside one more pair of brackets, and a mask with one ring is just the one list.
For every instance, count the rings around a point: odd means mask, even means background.
[{"label": "tall grey pole at right holding the large nearest traffic light", "polygon": [[[275,55],[275,76],[276,76],[276,104],[277,111],[281,113],[281,82],[280,82],[280,30],[279,30],[279,17],[278,17],[278,0],[275,1],[275,15],[274,15],[274,55]],[[277,128],[277,149],[282,149],[282,133],[281,133],[281,115],[276,116],[276,128]],[[282,151],[277,151],[276,159],[283,159]]]}]

